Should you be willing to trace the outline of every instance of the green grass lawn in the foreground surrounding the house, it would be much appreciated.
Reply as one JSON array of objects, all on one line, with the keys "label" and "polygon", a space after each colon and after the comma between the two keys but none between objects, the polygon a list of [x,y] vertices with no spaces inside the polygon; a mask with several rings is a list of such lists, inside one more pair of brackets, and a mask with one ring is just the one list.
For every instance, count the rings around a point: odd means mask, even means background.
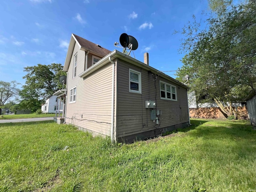
[{"label": "green grass lawn in the foreground surrounding the house", "polygon": [[0,191],[255,192],[256,130],[247,121],[191,123],[134,144],[53,122],[0,124]]}]

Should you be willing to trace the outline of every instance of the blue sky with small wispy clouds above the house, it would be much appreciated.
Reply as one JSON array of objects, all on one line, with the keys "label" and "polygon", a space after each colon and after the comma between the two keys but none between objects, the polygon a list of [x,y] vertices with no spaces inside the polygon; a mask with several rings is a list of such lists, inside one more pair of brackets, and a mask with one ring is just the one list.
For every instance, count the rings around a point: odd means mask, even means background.
[{"label": "blue sky with small wispy clouds above the house", "polygon": [[204,20],[202,10],[206,0],[1,0],[0,80],[24,84],[26,66],[64,65],[72,33],[111,51],[122,51],[114,42],[127,33],[138,40],[137,60],[148,52],[150,66],[177,70],[182,35],[173,32],[193,14]]}]

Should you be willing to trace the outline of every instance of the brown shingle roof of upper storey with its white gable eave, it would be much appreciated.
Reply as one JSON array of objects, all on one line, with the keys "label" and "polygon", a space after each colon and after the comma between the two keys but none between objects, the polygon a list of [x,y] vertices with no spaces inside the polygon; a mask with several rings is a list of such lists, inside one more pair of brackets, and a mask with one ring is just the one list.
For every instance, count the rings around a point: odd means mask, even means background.
[{"label": "brown shingle roof of upper storey with its white gable eave", "polygon": [[104,57],[111,52],[110,50],[107,50],[98,44],[90,42],[78,35],[72,34],[71,38],[70,38],[70,43],[68,46],[68,53],[67,53],[66,60],[64,63],[63,71],[66,71],[66,72],[68,71],[68,67],[69,67],[70,60],[72,58],[72,54],[73,54],[73,50],[74,50],[74,46],[76,43],[78,44],[80,50],[84,50],[86,52],[90,51],[90,53],[95,54],[96,56]]}]

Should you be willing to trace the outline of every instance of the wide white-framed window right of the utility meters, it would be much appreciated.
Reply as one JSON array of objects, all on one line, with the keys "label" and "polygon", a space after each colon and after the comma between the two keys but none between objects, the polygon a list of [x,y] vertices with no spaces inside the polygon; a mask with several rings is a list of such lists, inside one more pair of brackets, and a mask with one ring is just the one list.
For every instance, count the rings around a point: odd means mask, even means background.
[{"label": "wide white-framed window right of the utility meters", "polygon": [[160,98],[177,101],[176,86],[160,81]]}]

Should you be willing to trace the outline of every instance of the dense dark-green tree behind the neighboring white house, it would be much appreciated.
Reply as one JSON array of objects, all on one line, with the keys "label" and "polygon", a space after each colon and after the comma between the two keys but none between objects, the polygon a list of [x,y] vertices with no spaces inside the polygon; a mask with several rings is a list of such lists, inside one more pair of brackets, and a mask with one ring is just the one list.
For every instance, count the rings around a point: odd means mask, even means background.
[{"label": "dense dark-green tree behind the neighboring white house", "polygon": [[58,81],[61,75],[66,74],[62,68],[61,64],[56,63],[25,67],[24,71],[27,74],[23,77],[26,82],[20,92],[22,99],[20,107],[35,112],[41,107],[42,102],[62,88],[62,84]]}]

